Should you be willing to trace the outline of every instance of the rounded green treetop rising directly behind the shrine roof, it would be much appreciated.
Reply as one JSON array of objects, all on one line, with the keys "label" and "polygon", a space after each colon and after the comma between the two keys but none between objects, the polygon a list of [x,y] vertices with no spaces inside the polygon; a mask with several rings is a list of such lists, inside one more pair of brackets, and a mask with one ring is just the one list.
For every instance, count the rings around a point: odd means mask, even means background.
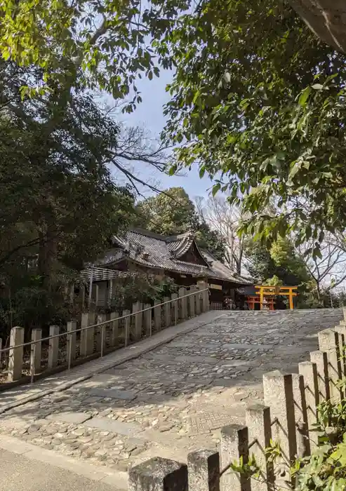
[{"label": "rounded green treetop rising directly behind the shrine roof", "polygon": [[136,224],[140,227],[164,236],[193,231],[202,249],[209,250],[216,259],[223,260],[223,237],[197,215],[194,203],[182,187],[171,187],[157,196],[140,201],[136,212]]}]

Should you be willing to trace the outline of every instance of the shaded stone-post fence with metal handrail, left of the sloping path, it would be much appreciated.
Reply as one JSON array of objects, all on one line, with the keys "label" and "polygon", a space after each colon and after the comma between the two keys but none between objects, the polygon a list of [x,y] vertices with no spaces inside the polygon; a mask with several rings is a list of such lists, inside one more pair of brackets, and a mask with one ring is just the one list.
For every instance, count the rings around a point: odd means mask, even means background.
[{"label": "shaded stone-post fence with metal handrail, left of the sloping path", "polygon": [[[96,314],[88,311],[81,314],[79,322],[67,326],[51,325],[48,337],[42,337],[41,329],[32,330],[32,339],[24,342],[24,328],[11,329],[9,347],[1,349],[0,375],[7,382],[34,382],[52,370],[63,370],[103,356],[116,349],[127,347],[155,332],[208,311],[208,288],[201,282],[198,286],[180,288],[178,294],[166,297],[154,305],[133,304],[132,311]],[[8,385],[8,384],[7,384]],[[6,386],[6,383],[0,384]]]}]

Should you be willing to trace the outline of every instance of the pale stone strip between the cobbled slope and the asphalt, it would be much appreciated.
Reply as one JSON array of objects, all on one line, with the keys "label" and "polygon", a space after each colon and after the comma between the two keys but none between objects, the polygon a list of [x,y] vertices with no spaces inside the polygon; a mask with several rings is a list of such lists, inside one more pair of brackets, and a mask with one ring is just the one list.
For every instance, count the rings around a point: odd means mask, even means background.
[{"label": "pale stone strip between the cobbled slope and the asphalt", "polygon": [[109,484],[114,487],[114,490],[127,490],[128,473],[125,471],[93,466],[93,464],[88,464],[85,460],[79,461],[72,457],[61,455],[55,450],[44,450],[32,445],[32,443],[23,442],[14,436],[0,435],[0,448],[16,455],[22,455],[26,459],[44,462],[44,464],[74,472],[78,476],[83,476],[98,483]]}]

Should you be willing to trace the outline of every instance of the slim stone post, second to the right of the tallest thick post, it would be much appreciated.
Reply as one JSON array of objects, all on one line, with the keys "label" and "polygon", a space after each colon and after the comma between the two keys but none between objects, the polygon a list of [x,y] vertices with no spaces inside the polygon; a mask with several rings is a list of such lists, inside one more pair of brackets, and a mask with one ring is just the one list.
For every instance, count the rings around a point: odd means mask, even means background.
[{"label": "slim stone post, second to the right of the tallest thick post", "polygon": [[317,447],[317,433],[314,431],[317,422],[317,406],[319,405],[319,382],[317,366],[311,361],[299,363],[299,373],[304,379],[305,401],[307,407],[307,426],[309,429],[310,450]]}]

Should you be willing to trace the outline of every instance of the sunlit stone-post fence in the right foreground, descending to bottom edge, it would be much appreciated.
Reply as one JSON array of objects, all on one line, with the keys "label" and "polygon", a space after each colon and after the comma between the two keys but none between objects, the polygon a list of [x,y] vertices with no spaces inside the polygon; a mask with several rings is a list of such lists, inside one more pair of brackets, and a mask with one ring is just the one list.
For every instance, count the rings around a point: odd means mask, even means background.
[{"label": "sunlit stone-post fence in the right foreground, descending to bottom edge", "polygon": [[[345,316],[345,309],[344,309]],[[157,457],[133,467],[129,472],[129,491],[268,491],[286,488],[287,463],[305,457],[317,447],[317,406],[345,396],[338,380],[346,376],[346,324],[319,332],[319,350],[310,361],[298,365],[298,373],[279,371],[263,376],[264,404],[248,405],[244,426],[221,429],[220,449],[200,450],[188,455],[187,465]],[[281,455],[274,465],[265,448],[274,441]],[[255,457],[262,479],[246,477],[229,464],[249,462]],[[286,462],[286,464],[284,464]]]}]

